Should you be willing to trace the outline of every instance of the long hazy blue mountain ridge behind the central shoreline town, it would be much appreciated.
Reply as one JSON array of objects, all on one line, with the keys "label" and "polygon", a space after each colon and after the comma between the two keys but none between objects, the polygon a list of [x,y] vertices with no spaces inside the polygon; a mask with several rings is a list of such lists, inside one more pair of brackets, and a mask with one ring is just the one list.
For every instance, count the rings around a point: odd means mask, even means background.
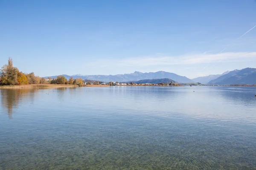
[{"label": "long hazy blue mountain ridge behind the central shoreline town", "polygon": [[[182,82],[182,83],[189,83],[189,82],[194,82],[193,80],[185,77],[185,76],[179,76],[174,73],[169,73],[165,71],[157,71],[157,72],[149,72],[149,73],[141,73],[138,71],[135,71],[134,73],[131,74],[118,74],[118,75],[80,75],[76,74],[73,76],[68,76],[68,75],[63,75],[67,79],[70,77],[73,77],[74,79],[76,78],[81,78],[81,79],[93,79],[97,81],[102,81],[102,82],[128,82],[128,81],[138,81],[142,79],[163,79],[163,78],[168,78],[172,79],[176,82]],[[52,78],[56,78],[57,76],[50,76]],[[47,77],[45,77],[47,78]]]}]

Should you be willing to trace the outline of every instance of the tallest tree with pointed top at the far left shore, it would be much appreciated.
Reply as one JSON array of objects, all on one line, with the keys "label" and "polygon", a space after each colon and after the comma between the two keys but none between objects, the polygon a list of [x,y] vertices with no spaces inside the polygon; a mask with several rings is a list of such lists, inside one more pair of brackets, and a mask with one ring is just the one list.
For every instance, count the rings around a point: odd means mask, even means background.
[{"label": "tallest tree with pointed top at the far left shore", "polygon": [[2,84],[3,85],[17,85],[18,69],[13,67],[12,58],[9,57],[8,64],[1,69]]}]

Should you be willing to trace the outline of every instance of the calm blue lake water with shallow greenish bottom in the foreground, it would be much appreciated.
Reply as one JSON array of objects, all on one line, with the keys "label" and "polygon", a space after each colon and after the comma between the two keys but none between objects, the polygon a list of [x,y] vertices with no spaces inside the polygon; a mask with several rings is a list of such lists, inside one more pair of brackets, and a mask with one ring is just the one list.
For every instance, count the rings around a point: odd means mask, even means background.
[{"label": "calm blue lake water with shallow greenish bottom in the foreground", "polygon": [[0,94],[3,170],[256,169],[253,87],[2,89]]}]

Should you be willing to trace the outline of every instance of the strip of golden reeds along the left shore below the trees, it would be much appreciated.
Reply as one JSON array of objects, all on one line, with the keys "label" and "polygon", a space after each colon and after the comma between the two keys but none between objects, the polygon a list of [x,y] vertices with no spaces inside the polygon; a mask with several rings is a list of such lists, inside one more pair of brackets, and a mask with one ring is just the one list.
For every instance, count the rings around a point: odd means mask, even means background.
[{"label": "strip of golden reeds along the left shore below the trees", "polygon": [[52,84],[34,84],[34,85],[3,85],[0,89],[4,88],[73,88],[78,87],[78,85],[52,85]]}]

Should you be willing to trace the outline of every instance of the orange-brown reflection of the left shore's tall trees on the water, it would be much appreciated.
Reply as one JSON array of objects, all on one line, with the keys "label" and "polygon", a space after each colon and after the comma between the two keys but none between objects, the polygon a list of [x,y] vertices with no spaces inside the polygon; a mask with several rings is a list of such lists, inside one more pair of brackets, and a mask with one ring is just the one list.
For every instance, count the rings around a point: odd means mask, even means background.
[{"label": "orange-brown reflection of the left shore's tall trees on the water", "polygon": [[32,88],[0,90],[2,107],[6,109],[10,119],[12,119],[13,109],[18,107],[22,99],[29,98],[33,102],[35,91]]}]

